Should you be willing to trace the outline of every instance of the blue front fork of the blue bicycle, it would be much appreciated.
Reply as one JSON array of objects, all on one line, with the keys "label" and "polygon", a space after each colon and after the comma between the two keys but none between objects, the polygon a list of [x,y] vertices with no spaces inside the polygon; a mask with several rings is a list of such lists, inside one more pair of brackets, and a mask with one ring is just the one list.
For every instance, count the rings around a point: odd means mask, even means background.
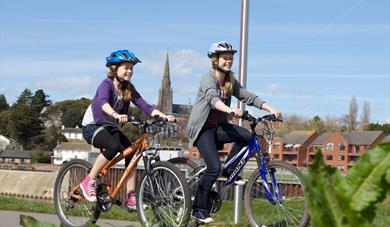
[{"label": "blue front fork of the blue bicycle", "polygon": [[[262,180],[265,194],[267,196],[268,201],[273,205],[275,205],[277,202],[282,203],[283,198],[280,196],[278,184],[276,183],[275,169],[268,168],[269,158],[266,156],[262,156],[262,157],[258,158],[257,160],[259,160],[259,162],[260,162],[259,163],[260,176],[261,176],[261,180]],[[269,176],[271,178],[271,185],[272,185],[274,195],[272,195],[272,192],[270,190],[270,187],[269,187],[269,184],[267,181],[267,174],[268,173],[269,173]]]}]

